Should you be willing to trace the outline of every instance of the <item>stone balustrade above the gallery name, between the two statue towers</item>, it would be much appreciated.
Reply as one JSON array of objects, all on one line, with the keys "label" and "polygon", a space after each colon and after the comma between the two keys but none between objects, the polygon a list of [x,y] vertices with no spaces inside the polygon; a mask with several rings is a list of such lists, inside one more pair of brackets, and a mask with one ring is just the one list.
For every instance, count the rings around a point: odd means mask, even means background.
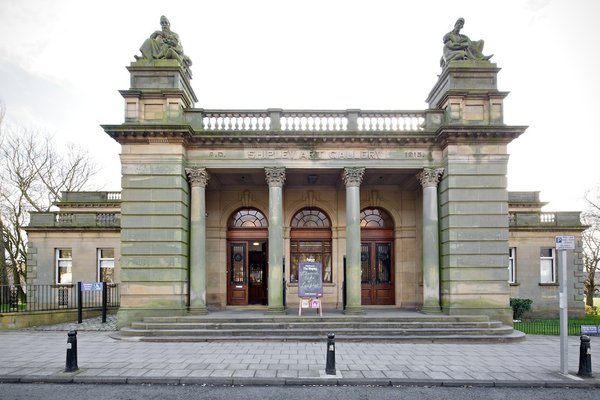
[{"label": "stone balustrade above the gallery name, between the two statue towers", "polygon": [[423,111],[203,110],[205,131],[423,131]]}]

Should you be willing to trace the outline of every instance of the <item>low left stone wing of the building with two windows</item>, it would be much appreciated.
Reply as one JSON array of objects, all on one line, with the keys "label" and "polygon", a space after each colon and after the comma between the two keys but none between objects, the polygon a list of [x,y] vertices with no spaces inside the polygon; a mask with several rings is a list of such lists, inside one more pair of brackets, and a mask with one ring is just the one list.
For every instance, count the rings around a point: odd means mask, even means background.
[{"label": "low left stone wing of the building with two windows", "polygon": [[27,284],[119,283],[121,193],[63,192],[55,208],[30,214]]}]

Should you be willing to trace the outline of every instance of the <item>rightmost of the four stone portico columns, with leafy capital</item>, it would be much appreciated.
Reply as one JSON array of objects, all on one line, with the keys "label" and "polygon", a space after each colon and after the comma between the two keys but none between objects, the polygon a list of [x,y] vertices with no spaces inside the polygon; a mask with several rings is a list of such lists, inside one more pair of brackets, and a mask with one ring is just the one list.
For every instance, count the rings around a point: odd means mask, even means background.
[{"label": "rightmost of the four stone portico columns, with leafy capital", "polygon": [[417,175],[423,186],[423,308],[425,313],[440,309],[440,240],[437,185],[443,168],[424,168]]}]

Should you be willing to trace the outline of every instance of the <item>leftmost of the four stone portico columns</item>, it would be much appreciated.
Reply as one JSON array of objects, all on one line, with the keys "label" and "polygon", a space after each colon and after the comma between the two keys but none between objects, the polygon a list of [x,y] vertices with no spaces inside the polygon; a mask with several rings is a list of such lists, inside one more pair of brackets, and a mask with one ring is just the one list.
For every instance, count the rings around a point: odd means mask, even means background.
[{"label": "leftmost of the four stone portico columns", "polygon": [[206,314],[206,168],[186,168],[190,204],[190,312]]}]

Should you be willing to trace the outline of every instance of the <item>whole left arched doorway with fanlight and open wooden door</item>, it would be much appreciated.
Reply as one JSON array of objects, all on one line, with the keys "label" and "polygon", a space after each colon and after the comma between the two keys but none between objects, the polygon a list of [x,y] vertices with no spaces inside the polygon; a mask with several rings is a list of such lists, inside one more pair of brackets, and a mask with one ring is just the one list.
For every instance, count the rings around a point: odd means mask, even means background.
[{"label": "whole left arched doorway with fanlight and open wooden door", "polygon": [[255,208],[234,212],[227,223],[227,304],[266,305],[268,225]]}]

